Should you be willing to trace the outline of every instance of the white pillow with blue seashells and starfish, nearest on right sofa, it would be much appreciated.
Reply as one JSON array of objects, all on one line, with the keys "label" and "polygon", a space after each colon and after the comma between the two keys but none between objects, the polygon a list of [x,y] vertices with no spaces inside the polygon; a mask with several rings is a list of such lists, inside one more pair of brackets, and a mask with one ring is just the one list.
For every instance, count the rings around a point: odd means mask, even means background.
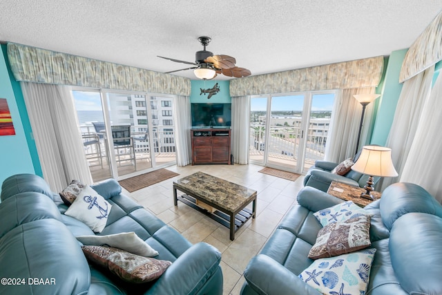
[{"label": "white pillow with blue seashells and starfish, nearest on right sofa", "polygon": [[314,260],[299,275],[323,294],[365,294],[376,249]]}]

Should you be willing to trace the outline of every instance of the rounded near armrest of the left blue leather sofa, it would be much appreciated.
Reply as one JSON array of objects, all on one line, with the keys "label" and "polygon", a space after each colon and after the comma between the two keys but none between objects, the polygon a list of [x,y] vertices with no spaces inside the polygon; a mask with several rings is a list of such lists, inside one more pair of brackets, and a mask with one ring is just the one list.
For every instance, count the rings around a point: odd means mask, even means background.
[{"label": "rounded near armrest of the left blue leather sofa", "polygon": [[195,294],[215,274],[220,261],[218,249],[199,242],[178,257],[146,294]]}]

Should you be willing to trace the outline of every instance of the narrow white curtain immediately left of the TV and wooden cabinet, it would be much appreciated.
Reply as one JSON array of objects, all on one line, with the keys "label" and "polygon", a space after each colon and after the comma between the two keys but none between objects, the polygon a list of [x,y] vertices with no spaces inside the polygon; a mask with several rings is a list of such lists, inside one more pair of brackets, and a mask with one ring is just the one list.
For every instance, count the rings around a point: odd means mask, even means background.
[{"label": "narrow white curtain immediately left of the TV and wooden cabinet", "polygon": [[191,146],[191,102],[189,96],[178,95],[173,103],[175,115],[175,142],[177,165],[186,166],[192,162]]}]

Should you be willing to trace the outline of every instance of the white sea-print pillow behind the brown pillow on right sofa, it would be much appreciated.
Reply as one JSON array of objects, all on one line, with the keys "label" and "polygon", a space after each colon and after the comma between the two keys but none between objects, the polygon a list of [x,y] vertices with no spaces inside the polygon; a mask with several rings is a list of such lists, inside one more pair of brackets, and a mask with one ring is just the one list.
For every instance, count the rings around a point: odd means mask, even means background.
[{"label": "white sea-print pillow behind the brown pillow on right sofa", "polygon": [[320,222],[323,227],[329,223],[345,221],[350,218],[355,218],[361,215],[372,216],[372,213],[362,209],[352,201],[342,202],[323,210],[319,210],[313,215]]}]

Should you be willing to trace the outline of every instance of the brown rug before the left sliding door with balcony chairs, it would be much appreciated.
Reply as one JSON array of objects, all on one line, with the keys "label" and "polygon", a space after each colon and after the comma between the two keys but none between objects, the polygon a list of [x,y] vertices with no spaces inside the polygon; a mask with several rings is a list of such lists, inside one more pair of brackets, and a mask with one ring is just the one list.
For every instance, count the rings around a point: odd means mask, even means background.
[{"label": "brown rug before the left sliding door with balcony chairs", "polygon": [[159,169],[152,172],[144,173],[142,175],[134,176],[133,178],[128,178],[125,180],[120,180],[119,185],[124,187],[129,193],[148,187],[149,185],[155,184],[157,182],[162,182],[163,180],[173,178],[176,175],[180,175],[173,171],[167,169]]}]

